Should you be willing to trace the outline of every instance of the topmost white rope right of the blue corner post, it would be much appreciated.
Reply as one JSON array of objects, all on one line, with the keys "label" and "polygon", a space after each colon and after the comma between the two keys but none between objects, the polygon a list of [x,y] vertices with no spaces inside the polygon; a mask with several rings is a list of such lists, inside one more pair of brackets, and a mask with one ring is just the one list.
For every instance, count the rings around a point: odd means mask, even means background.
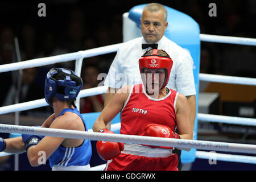
[{"label": "topmost white rope right of the blue corner post", "polygon": [[200,36],[200,40],[203,42],[256,46],[256,39],[252,39],[252,38],[241,38],[241,37],[234,37],[234,36],[221,36],[221,35],[208,35],[208,34],[200,34],[199,36]]}]

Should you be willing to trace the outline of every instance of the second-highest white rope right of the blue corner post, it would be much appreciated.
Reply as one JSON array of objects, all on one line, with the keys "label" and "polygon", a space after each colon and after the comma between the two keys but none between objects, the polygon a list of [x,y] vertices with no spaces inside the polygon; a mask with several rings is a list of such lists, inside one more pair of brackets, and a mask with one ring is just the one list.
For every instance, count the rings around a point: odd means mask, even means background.
[{"label": "second-highest white rope right of the blue corner post", "polygon": [[206,73],[199,73],[199,80],[210,81],[210,82],[221,82],[226,84],[256,85],[256,78],[211,75]]}]

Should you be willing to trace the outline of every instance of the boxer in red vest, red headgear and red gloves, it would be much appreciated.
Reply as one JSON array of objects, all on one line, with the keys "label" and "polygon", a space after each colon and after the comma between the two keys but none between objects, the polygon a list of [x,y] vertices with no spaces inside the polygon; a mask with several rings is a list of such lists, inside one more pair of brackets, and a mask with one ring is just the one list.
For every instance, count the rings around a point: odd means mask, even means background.
[{"label": "boxer in red vest, red headgear and red gloves", "polygon": [[[163,50],[144,53],[139,59],[143,84],[119,89],[96,119],[93,131],[112,133],[106,125],[121,112],[120,134],[192,139],[187,98],[166,86],[172,64]],[[174,132],[176,127],[179,134]],[[177,154],[172,150],[174,147],[97,142],[98,154],[108,160],[105,170],[177,170]]]}]

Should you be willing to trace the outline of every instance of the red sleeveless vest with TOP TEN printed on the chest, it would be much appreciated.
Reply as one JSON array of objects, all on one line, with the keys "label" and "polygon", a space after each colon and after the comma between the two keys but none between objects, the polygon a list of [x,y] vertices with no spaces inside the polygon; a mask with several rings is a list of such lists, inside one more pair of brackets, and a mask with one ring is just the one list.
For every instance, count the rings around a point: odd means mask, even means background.
[{"label": "red sleeveless vest with TOP TEN printed on the chest", "polygon": [[142,84],[133,85],[121,111],[120,134],[143,135],[145,128],[152,123],[168,126],[175,131],[176,97],[177,92],[170,89],[167,96],[153,99],[142,91]]}]

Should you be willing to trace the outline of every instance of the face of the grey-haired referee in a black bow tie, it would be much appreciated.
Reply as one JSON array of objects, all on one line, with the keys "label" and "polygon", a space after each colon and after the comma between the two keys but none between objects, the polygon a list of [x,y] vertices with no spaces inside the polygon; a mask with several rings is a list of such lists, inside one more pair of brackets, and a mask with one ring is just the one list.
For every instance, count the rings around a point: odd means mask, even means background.
[{"label": "face of the grey-haired referee in a black bow tie", "polygon": [[155,44],[162,39],[168,22],[164,20],[163,11],[150,13],[144,10],[141,17],[141,32],[148,44]]}]

